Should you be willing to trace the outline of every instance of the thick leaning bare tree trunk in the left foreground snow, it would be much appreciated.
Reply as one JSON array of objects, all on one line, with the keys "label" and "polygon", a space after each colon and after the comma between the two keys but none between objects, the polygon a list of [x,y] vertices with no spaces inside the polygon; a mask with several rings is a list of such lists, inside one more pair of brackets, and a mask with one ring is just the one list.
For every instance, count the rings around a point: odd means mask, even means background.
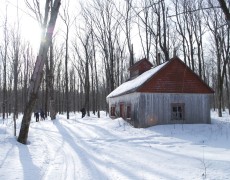
[{"label": "thick leaning bare tree trunk in the left foreground snow", "polygon": [[[51,1],[47,0],[47,4],[48,6],[50,6]],[[20,133],[18,137],[18,141],[22,144],[27,143],[31,115],[32,115],[33,107],[36,102],[36,98],[38,96],[38,90],[39,90],[39,86],[41,84],[41,80],[43,76],[43,67],[44,67],[46,57],[47,57],[47,52],[48,52],[48,49],[49,49],[49,46],[52,40],[52,35],[53,35],[54,27],[56,24],[60,5],[61,5],[61,0],[54,1],[53,6],[51,6],[52,9],[51,9],[49,23],[47,25],[47,28],[44,28],[45,34],[42,37],[44,41],[42,41],[40,44],[39,54],[37,56],[36,64],[35,64],[31,82],[30,82],[28,101],[26,103],[26,107],[24,110],[21,129],[20,129]],[[46,10],[48,9],[46,8]],[[45,11],[44,22],[48,22],[48,14],[49,12]]]}]

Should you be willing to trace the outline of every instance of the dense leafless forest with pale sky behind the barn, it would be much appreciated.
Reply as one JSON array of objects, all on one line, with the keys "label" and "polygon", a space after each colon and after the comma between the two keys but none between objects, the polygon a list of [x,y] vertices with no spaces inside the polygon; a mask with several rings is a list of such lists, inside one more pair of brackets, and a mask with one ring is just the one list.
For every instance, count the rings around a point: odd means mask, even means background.
[{"label": "dense leafless forest with pale sky behind the barn", "polygon": [[[53,0],[25,0],[23,12],[45,34],[54,14]],[[17,119],[28,100],[39,52],[21,32],[20,16],[9,19],[7,1],[0,14],[0,116]],[[87,114],[107,110],[106,96],[129,78],[128,68],[146,57],[151,63],[180,57],[215,91],[212,107],[230,109],[229,2],[225,0],[60,1],[57,24],[43,52],[41,81],[32,110]],[[22,2],[21,2],[22,3]],[[76,6],[76,7],[75,7]],[[51,21],[50,21],[51,22]],[[51,29],[53,30],[52,26]],[[48,33],[49,34],[49,33]],[[34,75],[35,76],[35,75]]]}]

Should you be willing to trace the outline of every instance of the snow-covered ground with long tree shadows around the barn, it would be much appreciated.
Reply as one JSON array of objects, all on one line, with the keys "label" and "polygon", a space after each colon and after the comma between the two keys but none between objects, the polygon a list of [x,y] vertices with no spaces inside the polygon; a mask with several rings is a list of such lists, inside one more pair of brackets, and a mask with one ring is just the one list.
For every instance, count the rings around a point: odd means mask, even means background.
[{"label": "snow-covered ground with long tree shadows around the barn", "polygon": [[103,112],[33,119],[28,145],[16,141],[10,118],[0,120],[0,179],[230,179],[230,116],[211,115],[212,124],[146,129]]}]

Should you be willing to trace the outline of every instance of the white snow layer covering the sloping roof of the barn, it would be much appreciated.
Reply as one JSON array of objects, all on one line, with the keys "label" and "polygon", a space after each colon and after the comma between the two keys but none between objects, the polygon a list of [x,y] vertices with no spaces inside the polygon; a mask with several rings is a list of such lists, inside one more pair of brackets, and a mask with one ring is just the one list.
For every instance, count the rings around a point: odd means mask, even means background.
[{"label": "white snow layer covering the sloping roof of the barn", "polygon": [[137,89],[140,87],[142,84],[144,84],[149,78],[151,78],[155,73],[157,73],[162,67],[164,67],[169,61],[152,68],[143,74],[139,75],[135,79],[132,79],[130,81],[127,81],[120,86],[118,86],[114,91],[112,91],[107,98],[114,97],[120,94],[124,94],[127,92],[131,92],[132,90]]}]

